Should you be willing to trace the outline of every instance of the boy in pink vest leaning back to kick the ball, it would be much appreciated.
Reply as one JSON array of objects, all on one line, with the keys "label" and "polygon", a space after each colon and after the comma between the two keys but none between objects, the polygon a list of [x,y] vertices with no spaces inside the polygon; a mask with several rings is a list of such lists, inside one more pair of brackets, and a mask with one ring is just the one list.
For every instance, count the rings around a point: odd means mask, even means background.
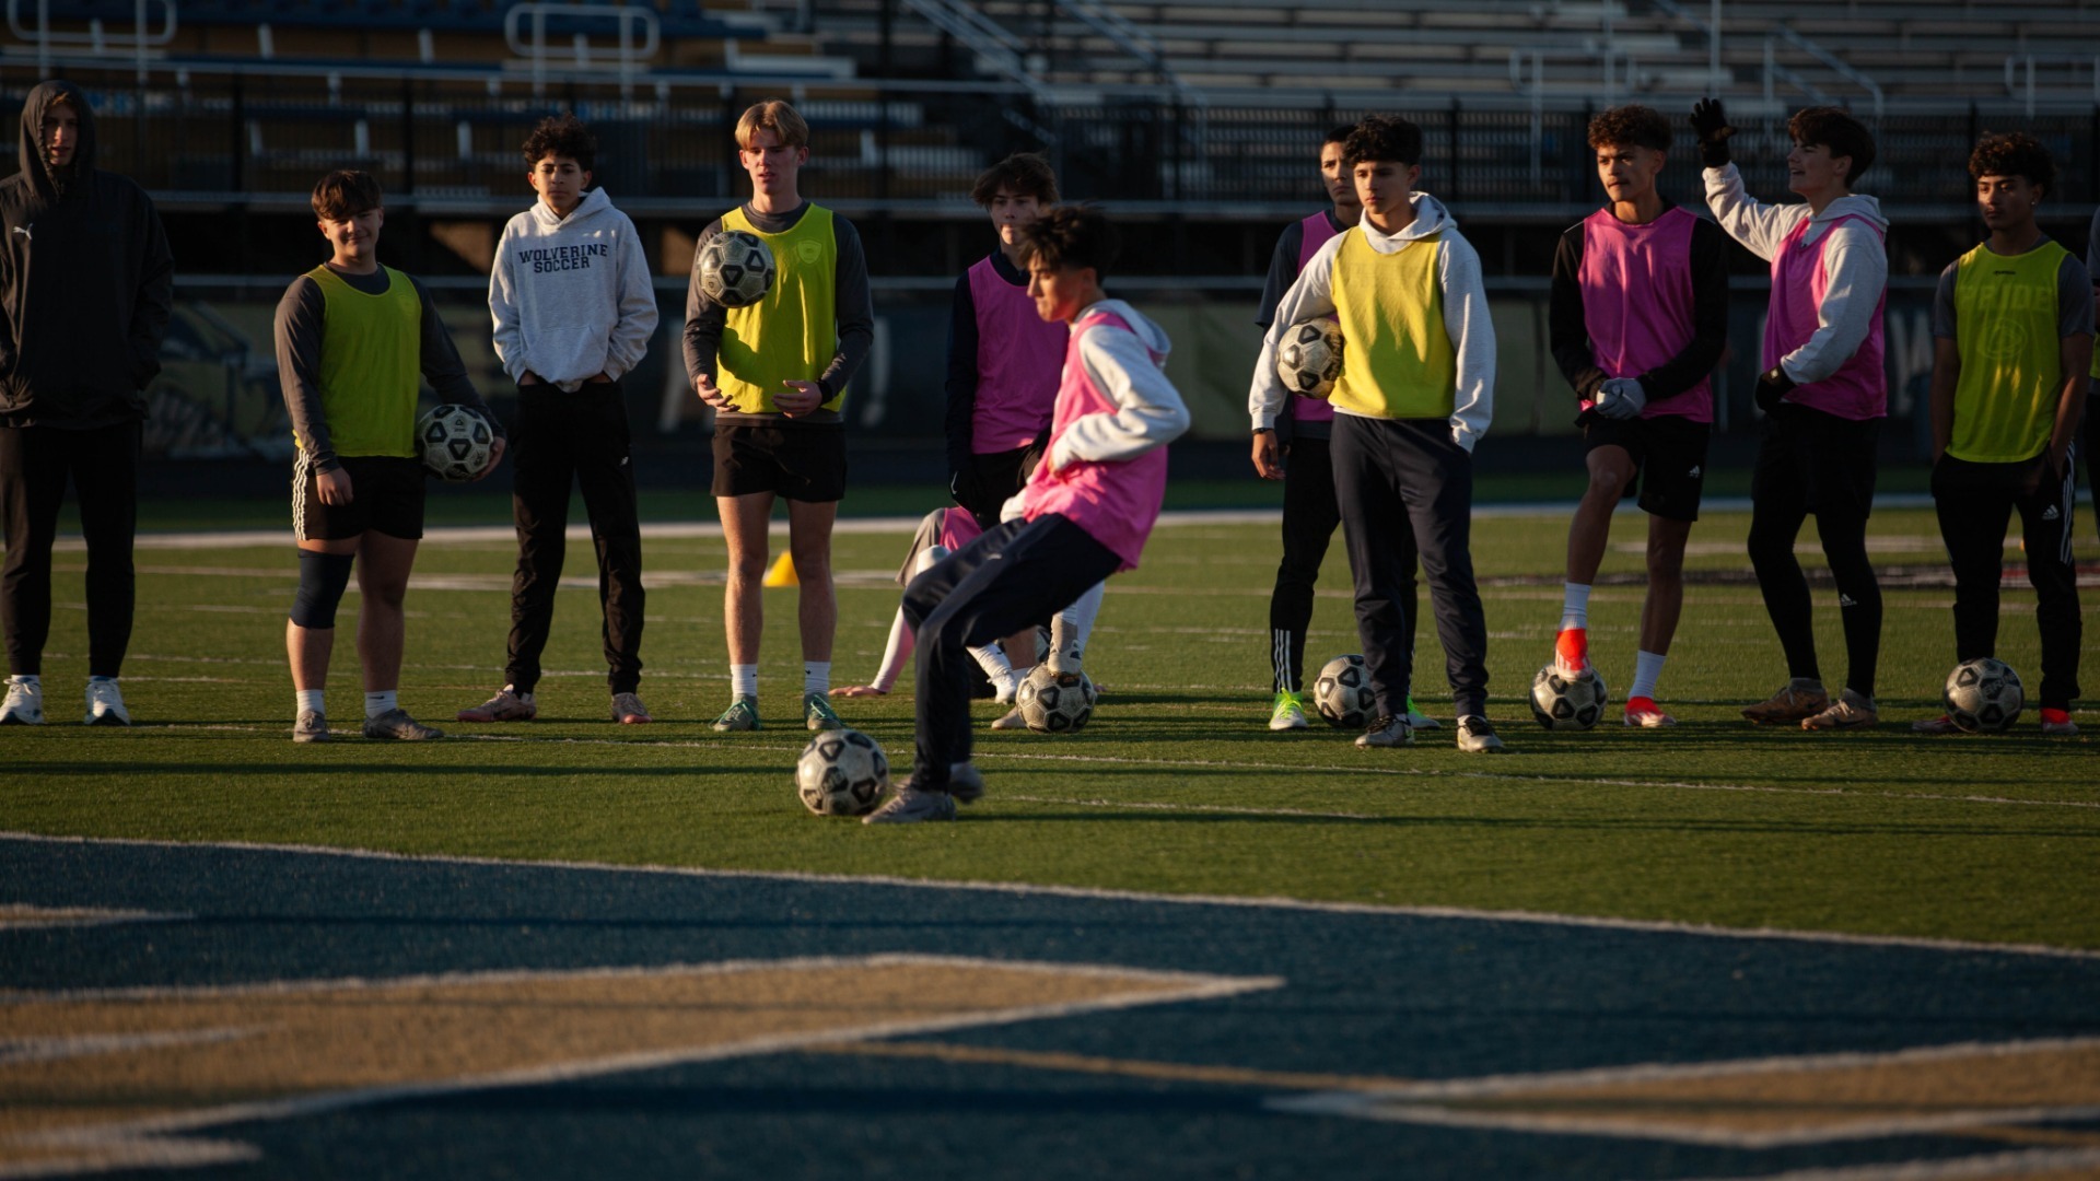
[{"label": "boy in pink vest leaning back to kick the ball", "polygon": [[[1021,492],[1023,511],[911,580],[918,633],[918,748],[911,778],[867,824],[953,820],[985,792],[970,765],[970,645],[1010,635],[1111,574],[1136,569],[1168,485],[1166,443],[1189,408],[1161,366],[1168,336],[1102,277],[1115,231],[1086,208],[1058,208],[1023,231],[1037,315],[1069,326],[1050,450]],[[1077,685],[1052,647],[1050,666]]]}]

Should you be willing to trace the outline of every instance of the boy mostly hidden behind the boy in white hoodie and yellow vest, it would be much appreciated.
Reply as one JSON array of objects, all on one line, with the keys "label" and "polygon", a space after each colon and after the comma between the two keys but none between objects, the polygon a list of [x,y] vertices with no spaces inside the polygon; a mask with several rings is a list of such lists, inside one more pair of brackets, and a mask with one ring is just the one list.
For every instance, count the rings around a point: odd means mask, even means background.
[{"label": "boy mostly hidden behind the boy in white hoodie and yellow vest", "polygon": [[[1342,164],[1342,145],[1348,143],[1352,126],[1338,126],[1319,145],[1319,174],[1327,185],[1331,208],[1323,208],[1304,221],[1283,227],[1277,250],[1268,258],[1268,282],[1262,286],[1260,315],[1254,317],[1262,332],[1277,319],[1277,303],[1292,290],[1304,265],[1319,254],[1329,237],[1357,225],[1363,219],[1363,204],[1357,200],[1357,179]],[[1342,511],[1334,502],[1334,462],[1327,456],[1327,439],[1334,431],[1334,406],[1323,397],[1292,393],[1283,410],[1273,416],[1270,427],[1260,422],[1262,408],[1254,414],[1254,471],[1262,479],[1283,481],[1283,561],[1277,563],[1277,586],[1268,595],[1268,664],[1275,700],[1268,706],[1268,729],[1304,729],[1304,664],[1306,628],[1312,626],[1312,584],[1319,580],[1319,565],[1327,557],[1327,542],[1334,540]],[[1405,584],[1407,647],[1415,645],[1415,576],[1407,569]],[[1415,712],[1407,702],[1407,721],[1418,729],[1436,729],[1441,723]]]}]

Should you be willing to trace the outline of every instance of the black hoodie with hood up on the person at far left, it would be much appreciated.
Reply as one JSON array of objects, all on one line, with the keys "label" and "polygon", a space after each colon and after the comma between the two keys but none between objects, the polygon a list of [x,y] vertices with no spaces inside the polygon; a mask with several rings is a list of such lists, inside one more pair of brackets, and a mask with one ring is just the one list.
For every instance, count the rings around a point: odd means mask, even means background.
[{"label": "black hoodie with hood up on the person at far left", "polygon": [[[42,153],[44,113],[80,113],[71,177]],[[145,418],[174,301],[153,200],[94,168],[94,111],[71,82],[21,109],[21,172],[0,181],[0,424],[94,429]]]}]

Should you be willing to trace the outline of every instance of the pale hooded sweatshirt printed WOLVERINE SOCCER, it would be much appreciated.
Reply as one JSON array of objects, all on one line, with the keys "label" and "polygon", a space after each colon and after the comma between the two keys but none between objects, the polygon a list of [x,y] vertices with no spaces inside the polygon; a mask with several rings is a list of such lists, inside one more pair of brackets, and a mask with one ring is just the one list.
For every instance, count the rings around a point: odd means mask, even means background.
[{"label": "pale hooded sweatshirt printed WOLVERINE SOCCER", "polygon": [[563,393],[601,372],[620,380],[649,351],[657,322],[634,223],[605,189],[584,193],[569,216],[533,202],[496,246],[489,313],[510,380],[529,370]]}]

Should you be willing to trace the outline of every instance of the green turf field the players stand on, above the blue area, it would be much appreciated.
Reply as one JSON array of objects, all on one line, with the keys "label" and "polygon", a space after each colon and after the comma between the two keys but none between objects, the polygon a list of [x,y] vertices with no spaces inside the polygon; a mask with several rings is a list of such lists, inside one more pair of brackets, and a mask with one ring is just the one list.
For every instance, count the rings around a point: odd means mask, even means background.
[{"label": "green turf field the players stand on, above the blue area", "polygon": [[[296,582],[281,540],[141,548],[139,626],[126,696],[139,727],[86,731],[84,555],[57,555],[61,609],[46,649],[57,725],[0,731],[8,767],[0,830],[269,841],[363,849],[718,868],[1069,883],[1214,895],[1466,906],[1984,941],[2100,948],[2100,735],[1922,740],[1953,662],[1949,588],[1890,588],[1871,733],[1751,729],[1737,708],[1783,679],[1747,582],[1745,515],[1693,534],[1684,624],[1663,677],[1682,725],[1592,733],[1537,729],[1522,704],[1558,620],[1567,521],[1483,519],[1474,557],[1487,599],[1499,759],[1457,754],[1441,651],[1422,637],[1418,702],[1445,714],[1403,752],[1350,733],[1273,735],[1266,597],[1275,527],[1161,527],[1144,567],[1111,584],[1088,666],[1109,687],[1073,738],[993,735],[991,794],[964,824],[874,830],[811,817],[790,773],[804,733],[794,593],[766,593],[762,702],[777,729],[714,735],[727,702],[722,544],[653,540],[643,698],[657,725],[603,721],[594,572],[571,544],[542,721],[454,725],[496,685],[508,630],[508,540],[424,546],[410,590],[403,704],[464,740],[386,746],[288,742],[284,614]],[[895,609],[905,534],[840,536],[834,683],[874,672]],[[1640,569],[1638,519],[1621,517],[1604,578]],[[1928,511],[1875,515],[1888,569],[1942,567]],[[2014,555],[2016,557],[2016,555]],[[1819,559],[1808,557],[1814,572]],[[1308,664],[1354,651],[1340,546],[1329,555]],[[1844,670],[1835,593],[1816,590],[1825,672]],[[344,609],[355,609],[355,595]],[[1632,675],[1640,588],[1600,584],[1592,649],[1615,698]],[[2100,618],[2087,599],[2087,635]],[[359,712],[349,628],[330,712]],[[2090,647],[2090,645],[2087,645]],[[1999,656],[2039,672],[2033,597],[2008,586]],[[2092,662],[2087,662],[2092,664]],[[2087,668],[2087,677],[2100,670]],[[840,702],[899,763],[911,750],[905,685]],[[979,704],[979,721],[995,717]]]}]

